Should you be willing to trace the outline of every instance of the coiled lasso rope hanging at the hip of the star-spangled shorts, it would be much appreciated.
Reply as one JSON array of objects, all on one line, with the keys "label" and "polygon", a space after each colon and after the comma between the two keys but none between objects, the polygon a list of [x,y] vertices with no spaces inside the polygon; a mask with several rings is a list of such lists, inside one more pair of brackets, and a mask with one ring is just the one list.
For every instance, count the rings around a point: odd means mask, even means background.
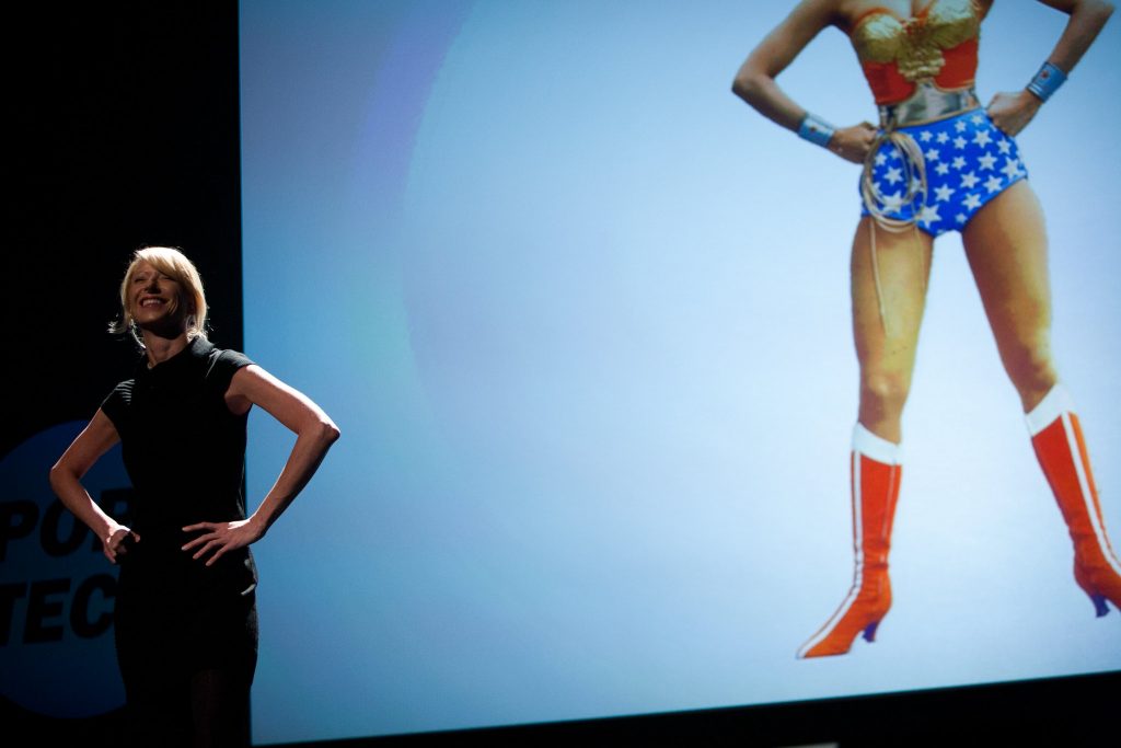
[{"label": "coiled lasso rope hanging at the hip of the star-spangled shorts", "polygon": [[[902,161],[902,178],[907,184],[907,190],[904,196],[898,202],[892,198],[890,204],[901,207],[904,205],[911,206],[911,216],[909,219],[897,219],[887,214],[887,211],[882,210],[880,205],[888,204],[888,200],[880,192],[879,187],[876,185],[876,181],[872,177],[872,172],[876,167],[876,156],[880,151],[880,147],[883,144],[890,144],[891,147],[896,149],[899,154],[900,160]],[[888,321],[887,313],[883,310],[883,287],[880,284],[880,261],[876,252],[876,227],[879,225],[884,231],[890,231],[891,233],[902,233],[904,231],[918,231],[918,212],[915,210],[916,203],[920,206],[926,205],[926,193],[927,193],[927,181],[926,181],[926,158],[923,156],[923,149],[919,145],[915,142],[915,138],[910,137],[906,132],[899,132],[895,129],[893,123],[884,126],[880,132],[877,133],[876,139],[872,140],[871,149],[868,151],[868,156],[864,158],[864,169],[860,179],[860,194],[864,201],[864,207],[868,209],[869,214],[872,220],[869,222],[869,234],[871,236],[871,252],[872,252],[872,279],[876,283],[876,303],[880,311],[880,326],[887,334]],[[919,255],[921,256],[921,243],[918,241],[918,236],[915,236],[915,243],[919,249]],[[926,259],[924,257],[923,261],[923,293],[926,293]]]}]

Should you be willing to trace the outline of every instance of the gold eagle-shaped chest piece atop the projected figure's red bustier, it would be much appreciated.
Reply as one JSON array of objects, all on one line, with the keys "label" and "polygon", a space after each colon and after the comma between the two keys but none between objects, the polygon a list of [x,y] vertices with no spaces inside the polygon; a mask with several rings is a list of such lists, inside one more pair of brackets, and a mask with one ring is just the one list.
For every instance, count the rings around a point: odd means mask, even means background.
[{"label": "gold eagle-shaped chest piece atop the projected figure's red bustier", "polygon": [[934,0],[920,15],[900,20],[886,9],[869,12],[852,31],[861,62],[895,62],[914,83],[930,79],[945,65],[943,50],[975,38],[981,19],[972,0]]}]

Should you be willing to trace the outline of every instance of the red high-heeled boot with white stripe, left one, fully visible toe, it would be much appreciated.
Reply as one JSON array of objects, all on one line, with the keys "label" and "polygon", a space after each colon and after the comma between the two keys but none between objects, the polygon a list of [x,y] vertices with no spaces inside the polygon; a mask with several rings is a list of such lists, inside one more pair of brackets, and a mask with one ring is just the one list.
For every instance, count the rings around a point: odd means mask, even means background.
[{"label": "red high-heeled boot with white stripe, left one, fully visible toe", "polygon": [[869,641],[891,607],[888,552],[891,523],[899,498],[898,444],[881,438],[859,423],[852,434],[852,530],[855,572],[849,597],[833,618],[809,641],[798,657],[843,655],[861,631]]}]

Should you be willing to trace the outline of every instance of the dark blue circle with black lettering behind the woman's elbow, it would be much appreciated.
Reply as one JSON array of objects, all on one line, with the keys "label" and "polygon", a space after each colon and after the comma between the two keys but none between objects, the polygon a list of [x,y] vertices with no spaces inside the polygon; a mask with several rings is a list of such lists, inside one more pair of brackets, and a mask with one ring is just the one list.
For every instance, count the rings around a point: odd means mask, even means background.
[{"label": "dark blue circle with black lettering behind the woman's elbow", "polygon": [[[49,717],[124,704],[113,649],[118,567],[47,480],[84,427],[43,431],[0,462],[0,693]],[[132,491],[120,445],[82,483],[106,514],[128,523]]]}]

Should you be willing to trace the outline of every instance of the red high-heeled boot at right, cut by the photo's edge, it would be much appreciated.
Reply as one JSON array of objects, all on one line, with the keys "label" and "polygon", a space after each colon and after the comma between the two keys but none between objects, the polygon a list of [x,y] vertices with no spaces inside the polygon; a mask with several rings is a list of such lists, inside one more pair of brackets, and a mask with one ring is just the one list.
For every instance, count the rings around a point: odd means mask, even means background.
[{"label": "red high-heeled boot at right, cut by the photo's edge", "polygon": [[1121,563],[1105,534],[1082,426],[1066,389],[1055,385],[1027,422],[1036,458],[1074,541],[1075,581],[1099,616],[1109,612],[1106,600],[1121,609]]}]

